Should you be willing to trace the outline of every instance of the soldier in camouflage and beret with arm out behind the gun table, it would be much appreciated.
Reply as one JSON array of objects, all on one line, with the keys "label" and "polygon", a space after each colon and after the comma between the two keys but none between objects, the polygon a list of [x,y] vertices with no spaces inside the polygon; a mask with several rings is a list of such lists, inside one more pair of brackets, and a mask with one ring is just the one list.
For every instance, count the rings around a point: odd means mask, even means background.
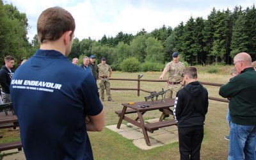
[{"label": "soldier in camouflage and beret with arm out behind the gun table", "polygon": [[[166,98],[175,98],[177,92],[185,83],[185,81],[183,81],[185,65],[179,61],[179,52],[173,52],[172,58],[173,61],[166,64],[163,73],[159,77],[160,79],[163,79],[164,74],[168,72],[166,90],[170,90],[166,92]],[[169,114],[173,115],[170,109],[161,109],[161,111],[163,111],[163,118],[168,117]]]}]

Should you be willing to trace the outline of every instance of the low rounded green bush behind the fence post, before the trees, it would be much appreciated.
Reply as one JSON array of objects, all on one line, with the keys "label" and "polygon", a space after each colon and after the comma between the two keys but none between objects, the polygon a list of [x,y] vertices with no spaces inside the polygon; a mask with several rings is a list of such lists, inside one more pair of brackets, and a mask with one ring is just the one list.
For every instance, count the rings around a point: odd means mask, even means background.
[{"label": "low rounded green bush behind the fence post, before the trees", "polygon": [[120,64],[122,72],[138,72],[140,69],[140,62],[134,58],[127,58]]}]

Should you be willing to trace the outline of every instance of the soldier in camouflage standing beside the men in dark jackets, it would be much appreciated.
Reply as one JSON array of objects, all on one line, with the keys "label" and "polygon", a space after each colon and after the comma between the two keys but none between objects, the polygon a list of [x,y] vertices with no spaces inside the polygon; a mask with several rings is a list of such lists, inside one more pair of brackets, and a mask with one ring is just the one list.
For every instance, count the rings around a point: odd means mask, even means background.
[{"label": "soldier in camouflage standing beside the men in dark jackets", "polygon": [[[112,75],[112,69],[106,64],[106,58],[101,58],[101,63],[98,65],[99,68],[99,86],[100,86],[100,99],[104,101],[104,88],[108,95],[108,101],[113,101],[110,94],[110,83],[108,79]],[[109,75],[108,75],[109,72]]]}]

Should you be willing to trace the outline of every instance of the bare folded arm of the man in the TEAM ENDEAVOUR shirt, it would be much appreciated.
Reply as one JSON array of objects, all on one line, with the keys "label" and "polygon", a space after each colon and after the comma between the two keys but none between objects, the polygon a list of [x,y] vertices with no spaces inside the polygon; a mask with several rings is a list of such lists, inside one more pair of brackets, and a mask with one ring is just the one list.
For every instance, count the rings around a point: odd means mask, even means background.
[{"label": "bare folded arm of the man in the TEAM ENDEAVOUR shirt", "polygon": [[99,115],[88,116],[89,120],[86,120],[86,129],[87,131],[102,131],[105,124],[105,114],[102,110]]}]

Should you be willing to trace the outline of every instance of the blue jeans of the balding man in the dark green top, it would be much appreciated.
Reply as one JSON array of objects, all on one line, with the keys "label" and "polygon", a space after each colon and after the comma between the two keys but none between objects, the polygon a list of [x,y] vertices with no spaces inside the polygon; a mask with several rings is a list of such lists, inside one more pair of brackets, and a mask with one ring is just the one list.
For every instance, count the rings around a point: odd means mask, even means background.
[{"label": "blue jeans of the balding man in the dark green top", "polygon": [[255,160],[256,125],[230,122],[228,160]]}]

